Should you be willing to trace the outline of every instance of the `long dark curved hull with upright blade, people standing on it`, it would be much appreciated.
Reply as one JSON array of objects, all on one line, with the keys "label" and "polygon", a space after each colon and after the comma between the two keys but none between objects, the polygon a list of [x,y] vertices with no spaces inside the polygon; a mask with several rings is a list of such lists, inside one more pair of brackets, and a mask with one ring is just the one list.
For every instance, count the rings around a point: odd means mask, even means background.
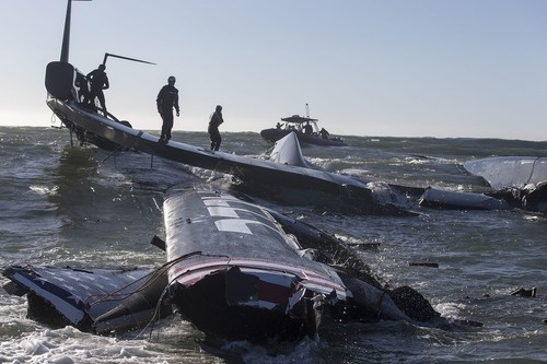
[{"label": "long dark curved hull with upright blade, people standing on it", "polygon": [[[224,152],[210,152],[175,141],[170,141],[168,144],[159,143],[155,136],[132,129],[127,122],[90,109],[81,102],[82,90],[85,90],[82,84],[86,80],[68,62],[67,34],[70,32],[67,27],[70,27],[70,4],[71,1],[68,2],[61,60],[50,62],[46,69],[47,105],[63,125],[85,140],[98,146],[108,143],[109,146],[133,149],[191,166],[230,174],[249,190],[256,187],[255,191],[267,191],[269,198],[281,202],[328,206],[358,213],[412,214],[406,206],[406,195],[393,190],[386,184],[360,180],[307,165],[290,164],[284,160],[275,163]],[[286,138],[295,137],[291,133]],[[282,145],[290,154],[300,154],[298,158],[303,160],[298,141],[283,142]],[[310,188],[311,186],[313,188]],[[295,201],[294,198],[299,200]]]}]

